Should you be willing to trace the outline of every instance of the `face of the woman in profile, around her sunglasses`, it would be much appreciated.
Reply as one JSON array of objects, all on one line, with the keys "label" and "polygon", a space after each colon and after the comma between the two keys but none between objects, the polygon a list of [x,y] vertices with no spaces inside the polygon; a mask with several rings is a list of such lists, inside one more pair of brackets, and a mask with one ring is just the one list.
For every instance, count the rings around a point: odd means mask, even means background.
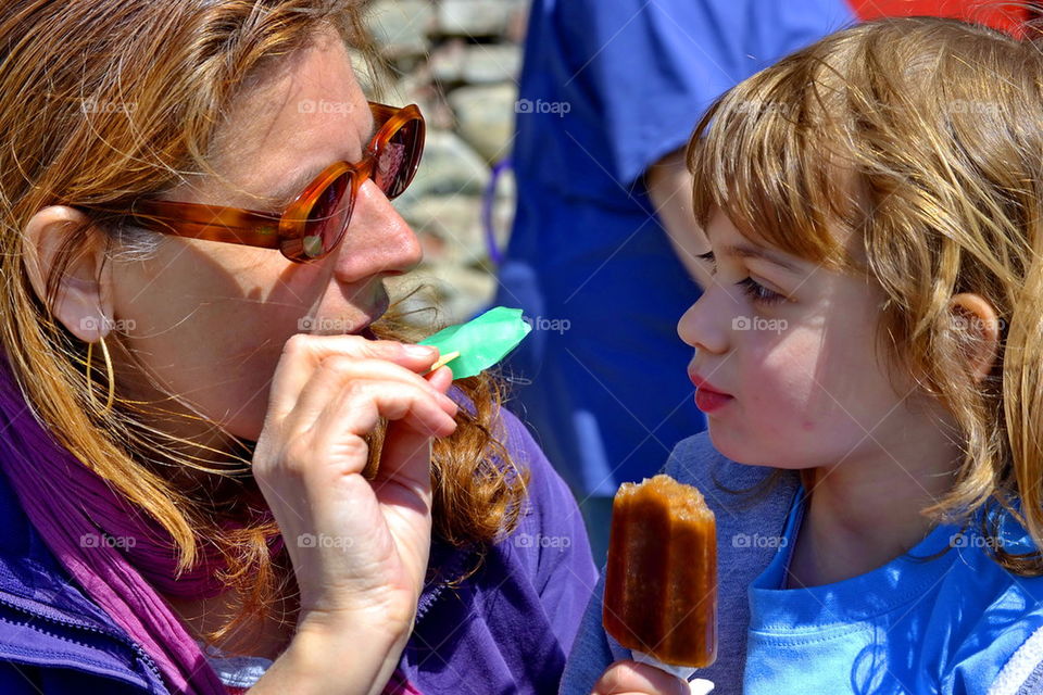
[{"label": "face of the woman in profile, around her sunglasses", "polygon": [[[291,60],[235,104],[212,162],[226,180],[201,175],[164,198],[256,208],[252,195],[296,194],[331,162],[361,159],[373,117],[342,43],[323,35]],[[325,258],[294,264],[277,250],[164,236],[155,257],[112,265],[112,318],[167,392],[256,440],[286,340],[363,331],[388,307],[385,278],[420,256],[416,236],[368,180]],[[155,397],[120,355],[121,392]]]}]

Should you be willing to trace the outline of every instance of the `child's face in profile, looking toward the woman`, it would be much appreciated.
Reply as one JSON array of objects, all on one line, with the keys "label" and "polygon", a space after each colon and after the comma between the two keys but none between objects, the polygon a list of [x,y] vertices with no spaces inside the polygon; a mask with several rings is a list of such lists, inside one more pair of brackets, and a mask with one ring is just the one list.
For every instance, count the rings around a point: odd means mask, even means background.
[{"label": "child's face in profile, looking toward the woman", "polygon": [[792,269],[734,255],[729,247],[765,247],[719,210],[706,233],[714,282],[678,333],[695,349],[693,381],[730,395],[696,395],[715,447],[740,463],[792,469],[901,448],[920,418],[907,407],[912,379],[889,378],[878,350],[882,290],[776,249],[767,251]]}]

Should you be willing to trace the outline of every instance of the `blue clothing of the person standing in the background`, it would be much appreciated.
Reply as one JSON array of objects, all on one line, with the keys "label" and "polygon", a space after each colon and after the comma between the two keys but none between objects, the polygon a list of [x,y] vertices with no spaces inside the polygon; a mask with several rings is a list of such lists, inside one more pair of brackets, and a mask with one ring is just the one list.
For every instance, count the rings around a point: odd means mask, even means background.
[{"label": "blue clothing of the person standing in the background", "polygon": [[536,330],[519,413],[574,490],[611,497],[705,428],[677,321],[699,288],[642,176],[738,81],[854,22],[843,0],[535,0],[495,303]]}]

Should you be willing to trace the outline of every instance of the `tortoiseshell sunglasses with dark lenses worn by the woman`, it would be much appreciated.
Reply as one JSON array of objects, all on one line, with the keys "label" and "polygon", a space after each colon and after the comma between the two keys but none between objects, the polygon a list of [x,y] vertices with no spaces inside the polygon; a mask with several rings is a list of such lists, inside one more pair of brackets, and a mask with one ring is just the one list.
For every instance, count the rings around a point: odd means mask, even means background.
[{"label": "tortoiseshell sunglasses with dark lenses worn by the woman", "polygon": [[343,239],[367,178],[392,199],[413,181],[420,163],[425,125],[416,104],[395,109],[369,102],[369,109],[377,131],[362,161],[330,164],[281,213],[143,199],[129,218],[163,233],[278,249],[294,263],[322,258]]}]

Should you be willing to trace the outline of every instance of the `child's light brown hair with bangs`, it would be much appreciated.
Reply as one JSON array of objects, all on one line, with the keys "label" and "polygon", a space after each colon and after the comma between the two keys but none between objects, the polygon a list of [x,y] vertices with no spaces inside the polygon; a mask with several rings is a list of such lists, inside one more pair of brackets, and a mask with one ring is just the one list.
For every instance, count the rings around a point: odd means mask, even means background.
[{"label": "child's light brown hair with bangs", "polygon": [[[994,559],[1043,573],[1040,45],[939,17],[846,28],[715,100],[688,165],[704,228],[719,210],[752,239],[879,283],[879,354],[959,429],[954,484],[923,513],[966,528],[981,511]],[[980,383],[976,333],[950,311],[959,292],[1001,321]],[[1004,549],[997,508],[1036,552]]]}]

